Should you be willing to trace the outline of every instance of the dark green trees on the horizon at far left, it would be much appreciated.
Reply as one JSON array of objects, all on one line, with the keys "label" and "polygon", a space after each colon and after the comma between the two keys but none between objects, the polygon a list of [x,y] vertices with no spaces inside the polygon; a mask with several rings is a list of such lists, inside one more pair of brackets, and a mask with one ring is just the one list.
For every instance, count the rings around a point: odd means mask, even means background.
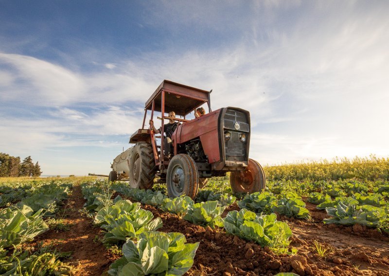
[{"label": "dark green trees on the horizon at far left", "polygon": [[31,156],[27,156],[20,161],[20,157],[0,153],[0,177],[17,177],[17,176],[40,176],[39,163],[34,164]]}]

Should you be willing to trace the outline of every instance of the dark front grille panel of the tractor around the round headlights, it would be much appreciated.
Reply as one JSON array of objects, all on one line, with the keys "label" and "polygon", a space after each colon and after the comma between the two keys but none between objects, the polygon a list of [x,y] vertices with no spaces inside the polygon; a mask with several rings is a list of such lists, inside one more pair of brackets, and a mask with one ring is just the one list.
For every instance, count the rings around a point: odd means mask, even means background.
[{"label": "dark front grille panel of the tractor around the round headlights", "polygon": [[[246,148],[250,125],[247,115],[243,112],[234,109],[228,109],[223,119],[224,129],[224,150],[226,160],[244,161],[247,160]],[[230,138],[226,138],[226,134]],[[246,141],[242,141],[239,137],[245,135]]]}]

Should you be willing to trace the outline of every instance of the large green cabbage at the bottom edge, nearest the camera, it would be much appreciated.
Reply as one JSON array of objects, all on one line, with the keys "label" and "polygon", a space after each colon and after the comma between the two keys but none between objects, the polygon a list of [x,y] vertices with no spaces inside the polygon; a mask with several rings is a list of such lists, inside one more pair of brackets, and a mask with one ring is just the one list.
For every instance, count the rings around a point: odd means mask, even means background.
[{"label": "large green cabbage at the bottom edge, nearest the camera", "polygon": [[181,233],[143,232],[137,243],[123,245],[123,257],[109,267],[111,276],[184,275],[193,265],[199,243]]}]

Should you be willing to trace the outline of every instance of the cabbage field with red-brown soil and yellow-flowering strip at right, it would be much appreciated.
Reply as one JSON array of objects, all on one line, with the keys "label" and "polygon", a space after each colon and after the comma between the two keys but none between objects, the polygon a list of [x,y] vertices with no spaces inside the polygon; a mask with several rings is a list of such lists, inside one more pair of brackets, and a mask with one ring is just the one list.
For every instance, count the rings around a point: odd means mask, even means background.
[{"label": "cabbage field with red-brown soil and yellow-flowering strip at right", "polygon": [[247,195],[214,177],[195,201],[161,184],[0,178],[0,274],[389,275],[389,162],[378,161],[355,165],[358,178],[265,168],[266,190]]}]

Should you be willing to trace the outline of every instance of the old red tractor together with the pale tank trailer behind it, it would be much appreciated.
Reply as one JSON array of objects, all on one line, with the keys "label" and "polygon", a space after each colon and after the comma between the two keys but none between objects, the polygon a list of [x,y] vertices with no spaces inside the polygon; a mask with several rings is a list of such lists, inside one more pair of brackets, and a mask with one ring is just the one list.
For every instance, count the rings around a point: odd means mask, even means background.
[{"label": "old red tractor together with the pale tank trailer behind it", "polygon": [[[257,161],[248,158],[250,113],[236,107],[212,111],[211,92],[164,80],[145,104],[142,128],[131,135],[129,142],[135,146],[114,159],[109,179],[128,178],[133,188],[151,189],[157,175],[159,183],[166,183],[170,197],[185,194],[194,199],[208,177],[231,172],[233,192],[263,190],[265,172]],[[208,114],[185,119],[203,104],[208,105]],[[149,110],[150,127],[143,128]],[[171,111],[180,118],[165,116]],[[178,122],[169,145],[172,155],[164,154],[166,137],[153,131],[155,112],[161,113],[161,134],[165,121]]]}]

